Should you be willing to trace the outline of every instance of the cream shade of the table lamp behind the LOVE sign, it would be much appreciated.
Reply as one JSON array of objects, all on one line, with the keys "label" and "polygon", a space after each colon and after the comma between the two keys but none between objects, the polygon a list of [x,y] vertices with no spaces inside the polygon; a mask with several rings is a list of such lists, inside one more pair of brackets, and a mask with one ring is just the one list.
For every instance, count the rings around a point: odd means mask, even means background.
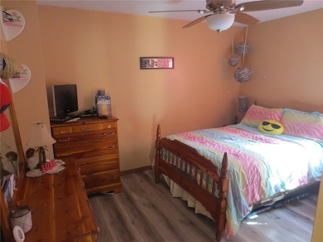
[{"label": "cream shade of the table lamp behind the LOVE sign", "polygon": [[27,146],[30,147],[42,147],[55,143],[48,133],[44,123],[37,123],[32,125],[31,135],[27,142]]}]

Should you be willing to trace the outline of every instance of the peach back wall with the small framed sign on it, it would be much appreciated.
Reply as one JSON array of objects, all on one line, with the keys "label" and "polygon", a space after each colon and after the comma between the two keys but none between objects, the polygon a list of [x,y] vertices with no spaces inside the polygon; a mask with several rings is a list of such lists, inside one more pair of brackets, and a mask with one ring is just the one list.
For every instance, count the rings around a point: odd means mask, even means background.
[{"label": "peach back wall with the small framed sign on it", "polygon": [[[157,124],[163,135],[233,122],[239,83],[227,64],[231,35],[205,23],[39,6],[47,94],[76,83],[79,110],[99,88],[120,120],[121,170],[149,165]],[[140,70],[140,56],[174,56],[174,70]],[[50,99],[50,98],[49,98]]]}]

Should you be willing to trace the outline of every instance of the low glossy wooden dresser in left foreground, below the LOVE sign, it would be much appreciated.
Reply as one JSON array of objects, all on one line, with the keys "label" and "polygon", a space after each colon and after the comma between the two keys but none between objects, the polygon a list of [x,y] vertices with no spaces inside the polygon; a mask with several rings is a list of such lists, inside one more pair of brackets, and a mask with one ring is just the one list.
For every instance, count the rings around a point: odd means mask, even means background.
[{"label": "low glossy wooden dresser in left foreground, below the LOVE sign", "polygon": [[20,200],[31,209],[26,242],[96,241],[98,228],[74,159],[58,174],[24,177]]}]

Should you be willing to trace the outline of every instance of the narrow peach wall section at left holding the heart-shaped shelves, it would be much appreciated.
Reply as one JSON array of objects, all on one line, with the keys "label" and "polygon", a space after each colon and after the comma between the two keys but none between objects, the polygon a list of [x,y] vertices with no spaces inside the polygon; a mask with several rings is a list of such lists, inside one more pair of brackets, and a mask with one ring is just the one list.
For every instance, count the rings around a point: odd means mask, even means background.
[{"label": "narrow peach wall section at left holding the heart-shaped shelves", "polygon": [[[5,42],[3,37],[1,39],[1,52],[18,59],[31,71],[28,85],[13,97],[21,141],[25,145],[29,139],[32,124],[45,123],[50,132],[37,5],[35,1],[1,1],[1,6],[5,10],[18,10],[23,14],[26,22],[24,30],[16,38],[8,42]],[[23,147],[24,151],[28,148]],[[52,147],[49,146],[47,158],[52,157]]]}]

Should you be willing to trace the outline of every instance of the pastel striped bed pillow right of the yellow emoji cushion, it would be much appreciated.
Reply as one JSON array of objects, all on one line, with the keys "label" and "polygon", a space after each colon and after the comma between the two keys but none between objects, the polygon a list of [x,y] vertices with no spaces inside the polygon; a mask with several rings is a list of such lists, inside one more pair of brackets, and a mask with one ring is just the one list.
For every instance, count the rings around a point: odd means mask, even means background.
[{"label": "pastel striped bed pillow right of the yellow emoji cushion", "polygon": [[323,142],[323,114],[284,109],[284,134]]}]

